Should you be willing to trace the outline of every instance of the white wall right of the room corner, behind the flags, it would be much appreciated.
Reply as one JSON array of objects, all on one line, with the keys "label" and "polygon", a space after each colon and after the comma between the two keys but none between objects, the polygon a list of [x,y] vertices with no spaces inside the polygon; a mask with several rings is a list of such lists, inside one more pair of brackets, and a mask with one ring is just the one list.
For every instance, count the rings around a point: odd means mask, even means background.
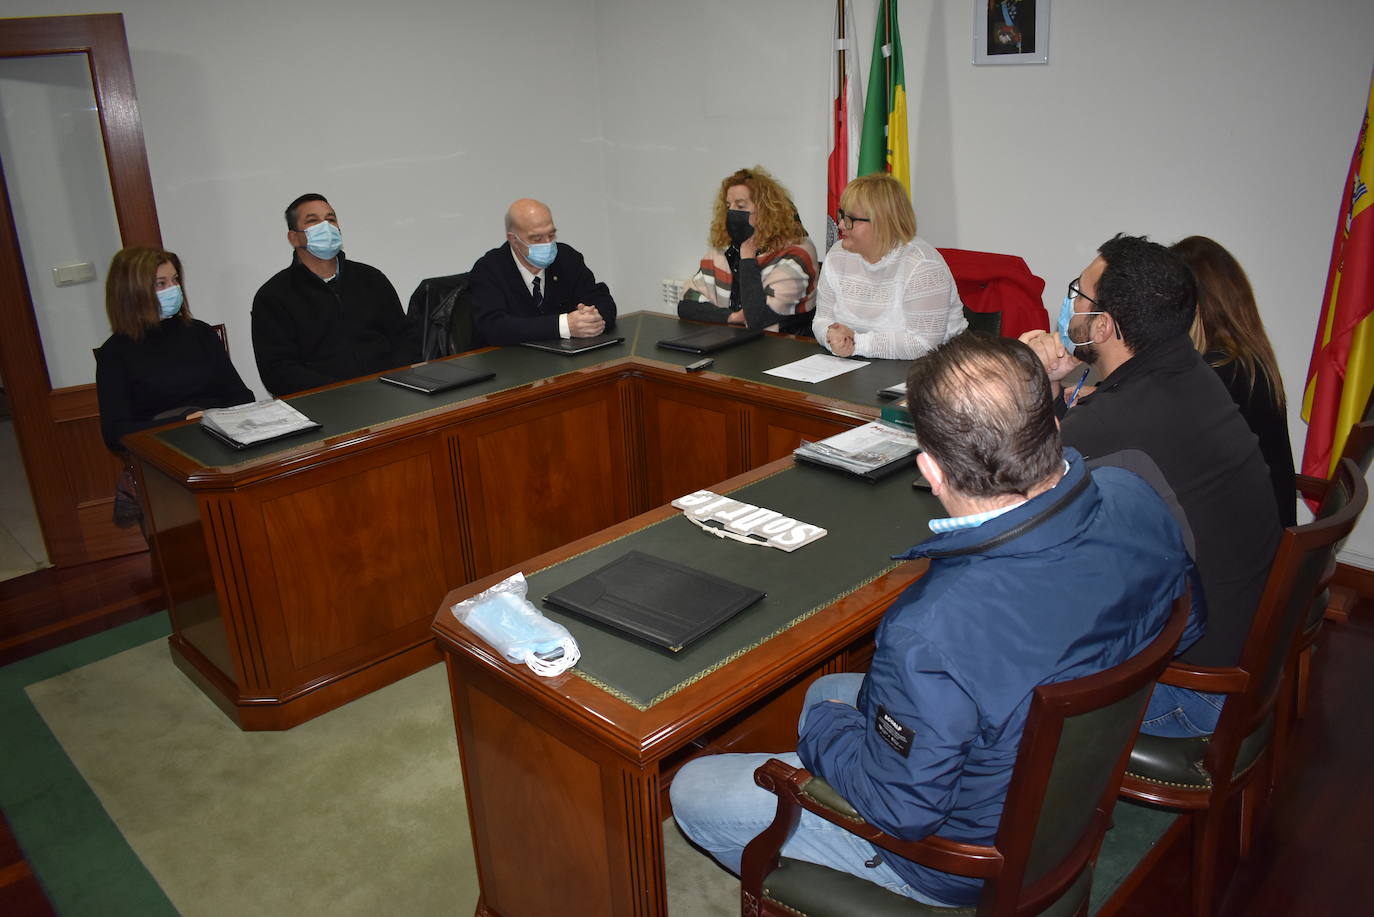
[{"label": "white wall right of the room corner, behind the flags", "polygon": [[[921,234],[1022,256],[1046,278],[1051,316],[1118,231],[1216,238],[1254,285],[1301,456],[1297,410],[1374,3],[1054,0],[1048,65],[976,67],[976,1],[900,7]],[[867,80],[877,0],[853,5]],[[658,279],[691,268],[709,195],[743,164],[774,169],[823,243],[834,4],[750,4],[753,43],[727,25],[738,7],[716,0],[598,8],[617,49],[602,67],[617,297],[657,302]],[[1342,560],[1374,568],[1374,514]]]}]

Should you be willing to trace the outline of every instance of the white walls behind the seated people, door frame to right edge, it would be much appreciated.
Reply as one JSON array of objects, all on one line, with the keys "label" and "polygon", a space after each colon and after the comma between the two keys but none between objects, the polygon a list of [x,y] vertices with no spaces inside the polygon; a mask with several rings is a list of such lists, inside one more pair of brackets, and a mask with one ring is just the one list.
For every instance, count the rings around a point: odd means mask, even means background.
[{"label": "white walls behind the seated people, door frame to right edge", "polygon": [[[1054,0],[1047,66],[974,67],[976,0],[901,4],[914,199],[936,245],[1011,252],[1046,301],[1117,231],[1246,265],[1300,400],[1374,48],[1367,0]],[[867,77],[877,0],[855,0]],[[0,15],[99,5],[0,0]],[[251,362],[282,208],[317,190],[407,298],[554,208],[622,309],[705,246],[763,164],[822,234],[830,0],[125,0],[162,234]],[[823,239],[820,239],[823,242]],[[1294,450],[1305,426],[1290,411]],[[1374,568],[1374,516],[1344,555]]]}]

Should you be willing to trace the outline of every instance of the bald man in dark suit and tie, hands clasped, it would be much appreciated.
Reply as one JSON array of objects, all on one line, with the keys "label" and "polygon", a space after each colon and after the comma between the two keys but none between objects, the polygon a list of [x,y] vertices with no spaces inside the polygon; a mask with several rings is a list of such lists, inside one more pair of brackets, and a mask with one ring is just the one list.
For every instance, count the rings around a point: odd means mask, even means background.
[{"label": "bald man in dark suit and tie, hands clasped", "polygon": [[556,242],[554,214],[522,198],[506,212],[506,245],[469,275],[481,345],[595,337],[616,327],[616,300],[581,253]]}]

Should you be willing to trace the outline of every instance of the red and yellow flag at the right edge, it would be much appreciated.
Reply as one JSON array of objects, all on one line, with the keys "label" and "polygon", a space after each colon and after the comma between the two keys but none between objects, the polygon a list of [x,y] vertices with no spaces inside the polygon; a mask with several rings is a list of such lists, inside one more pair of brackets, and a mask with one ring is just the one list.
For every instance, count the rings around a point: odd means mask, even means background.
[{"label": "red and yellow flag at the right edge", "polygon": [[1303,393],[1307,444],[1303,473],[1330,477],[1351,426],[1362,419],[1374,388],[1374,148],[1370,115],[1374,78],[1364,104],[1364,122],[1341,194],[1341,212],[1331,245],[1331,267],[1322,296],[1312,362]]}]

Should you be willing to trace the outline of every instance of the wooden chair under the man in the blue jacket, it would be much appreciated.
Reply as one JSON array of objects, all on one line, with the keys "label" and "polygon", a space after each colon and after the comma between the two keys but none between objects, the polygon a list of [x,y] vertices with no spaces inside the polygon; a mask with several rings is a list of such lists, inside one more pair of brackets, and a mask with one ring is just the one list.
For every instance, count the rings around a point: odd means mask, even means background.
[{"label": "wooden chair under the man in the blue jacket", "polygon": [[[1110,670],[1035,689],[993,846],[932,835],[899,840],[868,825],[824,780],[774,759],[754,781],[778,795],[772,825],[745,848],[742,913],[1069,914],[1087,913],[1092,863],[1116,802],[1125,756],[1153,682],[1183,634],[1183,595],[1160,635]],[[933,869],[985,879],[977,909],[932,907],[848,873],[779,857],[801,810]]]}]

